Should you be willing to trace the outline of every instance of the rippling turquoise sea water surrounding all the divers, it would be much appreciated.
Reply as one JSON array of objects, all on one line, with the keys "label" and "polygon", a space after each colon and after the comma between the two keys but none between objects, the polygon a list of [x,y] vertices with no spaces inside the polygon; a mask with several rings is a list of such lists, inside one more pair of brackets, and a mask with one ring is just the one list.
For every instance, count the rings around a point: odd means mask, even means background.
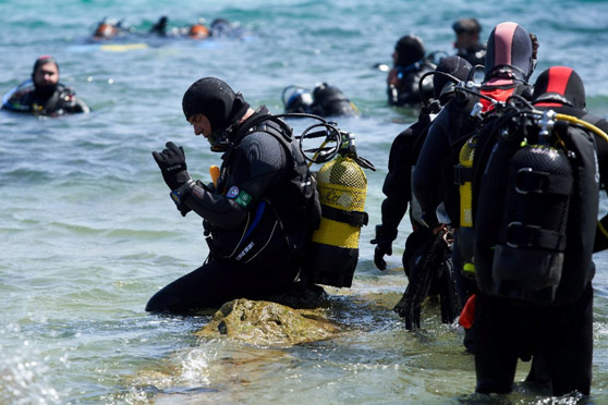
[{"label": "rippling turquoise sea water surrounding all the divers", "polygon": [[[430,3],[429,3],[430,4]],[[0,1],[0,91],[53,54],[62,81],[94,109],[44,119],[0,112],[0,404],[574,404],[518,384],[508,396],[472,395],[475,373],[462,331],[425,312],[406,332],[390,309],[405,287],[400,229],[390,269],[373,263],[373,224],[393,137],[415,113],[386,106],[394,41],[419,35],[451,52],[451,23],[474,15],[487,36],[503,21],[538,35],[539,65],[574,68],[587,106],[608,115],[607,1]],[[104,16],[146,29],[166,14],[177,26],[205,17],[239,22],[245,40],[155,41],[118,52],[87,44]],[[134,44],[142,40],[134,38]],[[156,291],[207,255],[195,216],[168,198],[150,151],[184,146],[193,175],[208,180],[219,157],[195,138],[181,97],[212,75],[254,106],[282,109],[283,87],[339,86],[360,118],[339,120],[357,136],[367,172],[370,225],[361,237],[354,285],[330,291],[338,339],[289,349],[198,342],[209,318],[147,315]],[[533,76],[535,78],[535,75]],[[299,128],[301,123],[292,122]],[[608,206],[603,201],[603,211]],[[596,256],[594,384],[581,403],[608,404],[608,259]],[[518,381],[528,364],[521,364]]]}]

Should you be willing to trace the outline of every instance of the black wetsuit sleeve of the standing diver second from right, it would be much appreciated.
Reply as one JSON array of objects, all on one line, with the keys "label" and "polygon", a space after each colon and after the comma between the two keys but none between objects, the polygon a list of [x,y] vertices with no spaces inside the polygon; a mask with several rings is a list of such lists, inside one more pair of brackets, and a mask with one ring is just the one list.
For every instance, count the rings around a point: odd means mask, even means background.
[{"label": "black wetsuit sleeve of the standing diver second from right", "polygon": [[422,210],[421,219],[428,228],[439,223],[436,209],[440,201],[437,200],[436,195],[441,185],[441,164],[450,152],[447,125],[449,125],[449,114],[447,109],[443,109],[428,130],[413,171],[413,194]]}]

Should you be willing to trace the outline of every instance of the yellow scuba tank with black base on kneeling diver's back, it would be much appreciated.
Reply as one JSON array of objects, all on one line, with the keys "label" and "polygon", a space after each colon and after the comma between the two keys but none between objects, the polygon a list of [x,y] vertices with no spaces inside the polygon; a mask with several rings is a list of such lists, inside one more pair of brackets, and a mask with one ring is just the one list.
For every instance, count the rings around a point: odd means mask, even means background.
[{"label": "yellow scuba tank with black base on kneeling diver's back", "polygon": [[[354,136],[331,123],[313,125],[320,132],[302,134],[301,140],[326,133],[319,148],[303,150],[311,163],[324,163],[316,173],[321,220],[313,233],[304,258],[304,273],[311,283],[350,287],[358,260],[361,228],[367,224],[365,209],[367,177],[363,169],[374,165],[356,155]],[[345,139],[343,139],[345,137]],[[327,147],[328,144],[333,146]],[[302,144],[301,144],[302,145]],[[308,158],[306,152],[314,152]]]}]

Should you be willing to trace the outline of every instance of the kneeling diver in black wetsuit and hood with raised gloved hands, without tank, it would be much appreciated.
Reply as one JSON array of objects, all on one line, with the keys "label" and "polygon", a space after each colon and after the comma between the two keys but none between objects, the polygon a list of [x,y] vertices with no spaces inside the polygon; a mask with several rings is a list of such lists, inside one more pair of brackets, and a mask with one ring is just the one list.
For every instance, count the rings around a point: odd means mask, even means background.
[{"label": "kneeling diver in black wetsuit and hood with raised gloved hands, without tank", "polygon": [[320,207],[291,128],[264,106],[254,111],[241,93],[215,77],[192,84],[182,108],[194,134],[222,152],[219,177],[209,184],[194,181],[183,148],[173,143],[153,156],[181,214],[194,211],[203,218],[209,256],[157,292],[146,310],[190,314],[297,289]]}]

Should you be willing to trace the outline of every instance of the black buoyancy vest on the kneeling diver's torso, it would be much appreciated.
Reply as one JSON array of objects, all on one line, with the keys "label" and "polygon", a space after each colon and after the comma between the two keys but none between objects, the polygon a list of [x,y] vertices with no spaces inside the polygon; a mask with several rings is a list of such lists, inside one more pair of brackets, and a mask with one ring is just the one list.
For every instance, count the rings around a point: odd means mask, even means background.
[{"label": "black buoyancy vest on the kneeling diver's torso", "polygon": [[[300,260],[313,231],[318,228],[320,206],[315,180],[302,156],[300,143],[294,139],[287,123],[277,115],[262,112],[245,121],[236,133],[227,135],[224,138],[230,140],[223,157],[226,164],[222,164],[222,170],[217,167],[212,172],[210,170],[214,187],[222,193],[232,193],[234,188],[227,191],[224,184],[229,162],[236,146],[252,132],[264,132],[281,144],[288,159],[284,174],[289,182],[275,194],[257,201],[255,208],[247,211],[239,232],[204,221],[207,243],[214,257],[241,263],[264,265],[268,258]],[[236,195],[233,197],[236,200],[240,198]]]}]

